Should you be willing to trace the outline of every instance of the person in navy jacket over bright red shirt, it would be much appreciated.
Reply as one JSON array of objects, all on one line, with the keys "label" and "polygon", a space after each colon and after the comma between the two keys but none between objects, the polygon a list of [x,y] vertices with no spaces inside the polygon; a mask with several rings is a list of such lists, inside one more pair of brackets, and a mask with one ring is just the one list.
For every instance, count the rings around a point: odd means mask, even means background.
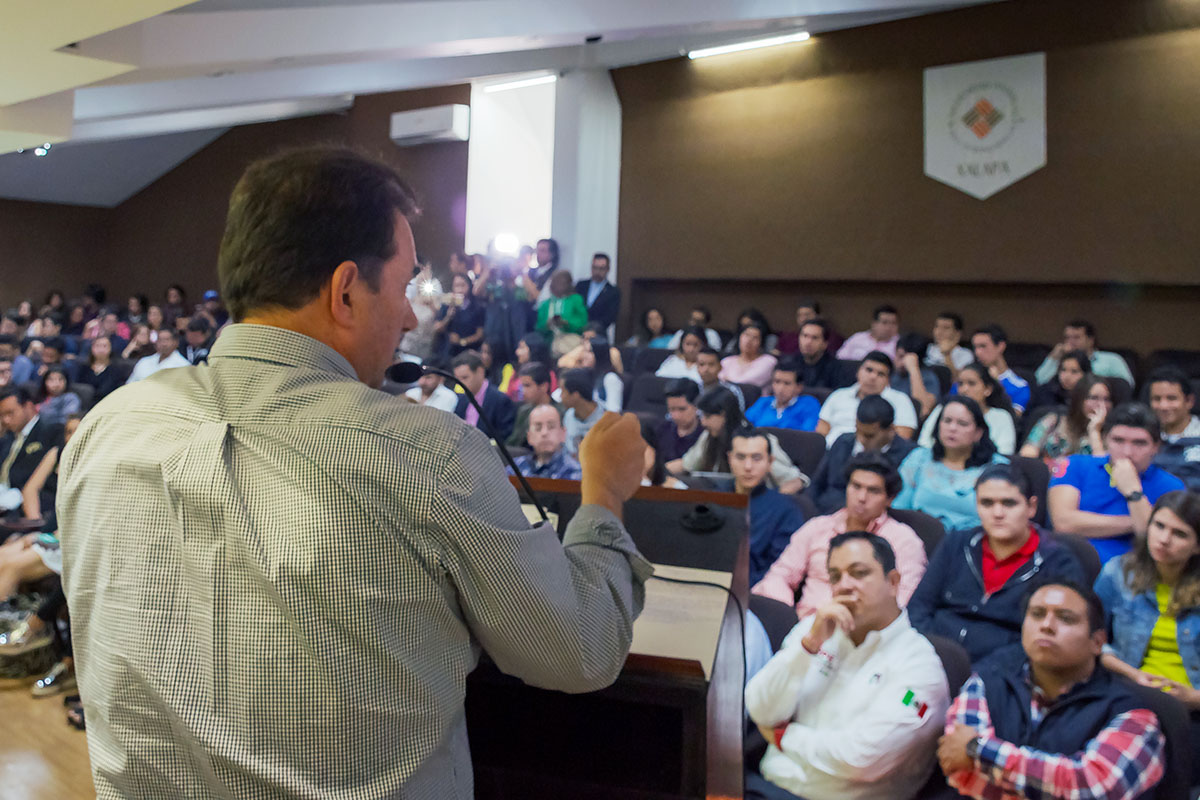
[{"label": "person in navy jacket over bright red shirt", "polygon": [[986,467],[974,489],[982,525],[946,535],[908,601],[913,627],[958,642],[972,663],[1021,640],[1031,587],[1084,579],[1070,548],[1033,524],[1038,499],[1018,467]]}]

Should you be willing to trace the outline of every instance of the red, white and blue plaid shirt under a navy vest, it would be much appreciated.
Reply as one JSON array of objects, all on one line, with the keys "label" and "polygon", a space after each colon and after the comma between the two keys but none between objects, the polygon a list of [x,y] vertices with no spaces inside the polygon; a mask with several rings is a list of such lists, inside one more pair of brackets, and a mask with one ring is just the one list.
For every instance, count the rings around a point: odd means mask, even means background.
[{"label": "red, white and blue plaid shirt under a navy vest", "polygon": [[[1049,705],[1034,686],[1031,718],[1040,722]],[[1078,753],[1048,753],[996,736],[983,680],[971,675],[946,715],[947,733],[956,724],[979,732],[979,748],[976,769],[954,772],[947,782],[978,800],[1132,800],[1163,777],[1163,733],[1147,709],[1118,714]]]}]

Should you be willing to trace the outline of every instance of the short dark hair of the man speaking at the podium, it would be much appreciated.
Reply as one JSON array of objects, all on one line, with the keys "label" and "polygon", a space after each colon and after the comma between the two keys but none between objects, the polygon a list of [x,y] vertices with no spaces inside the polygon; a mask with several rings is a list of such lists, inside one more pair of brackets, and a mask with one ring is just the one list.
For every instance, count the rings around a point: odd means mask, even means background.
[{"label": "short dark hair of the man speaking at the podium", "polygon": [[378,291],[396,253],[396,212],[416,212],[390,167],[353,150],[308,148],[251,164],[229,200],[217,273],[234,321],[257,308],[299,308],[343,261]]}]

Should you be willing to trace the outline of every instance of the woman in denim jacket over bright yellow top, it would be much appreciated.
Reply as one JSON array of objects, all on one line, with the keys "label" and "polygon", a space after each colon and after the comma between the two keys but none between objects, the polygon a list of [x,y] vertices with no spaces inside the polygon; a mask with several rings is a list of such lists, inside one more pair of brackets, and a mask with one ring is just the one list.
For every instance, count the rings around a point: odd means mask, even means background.
[{"label": "woman in denim jacket over bright yellow top", "polygon": [[[1096,594],[1109,616],[1100,662],[1200,712],[1200,493],[1168,492],[1136,547],[1104,565]],[[1195,727],[1196,723],[1193,723]]]}]

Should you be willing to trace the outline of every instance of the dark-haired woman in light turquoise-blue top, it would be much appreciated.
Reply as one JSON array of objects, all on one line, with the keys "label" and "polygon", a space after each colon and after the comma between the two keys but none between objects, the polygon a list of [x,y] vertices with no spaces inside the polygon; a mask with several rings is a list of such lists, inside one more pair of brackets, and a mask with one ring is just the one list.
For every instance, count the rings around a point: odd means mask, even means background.
[{"label": "dark-haired woman in light turquoise-blue top", "polygon": [[917,447],[900,462],[904,489],[894,509],[937,517],[946,530],[979,527],[974,485],[988,464],[1007,464],[996,452],[979,404],[954,396],[942,405],[932,447]]}]

